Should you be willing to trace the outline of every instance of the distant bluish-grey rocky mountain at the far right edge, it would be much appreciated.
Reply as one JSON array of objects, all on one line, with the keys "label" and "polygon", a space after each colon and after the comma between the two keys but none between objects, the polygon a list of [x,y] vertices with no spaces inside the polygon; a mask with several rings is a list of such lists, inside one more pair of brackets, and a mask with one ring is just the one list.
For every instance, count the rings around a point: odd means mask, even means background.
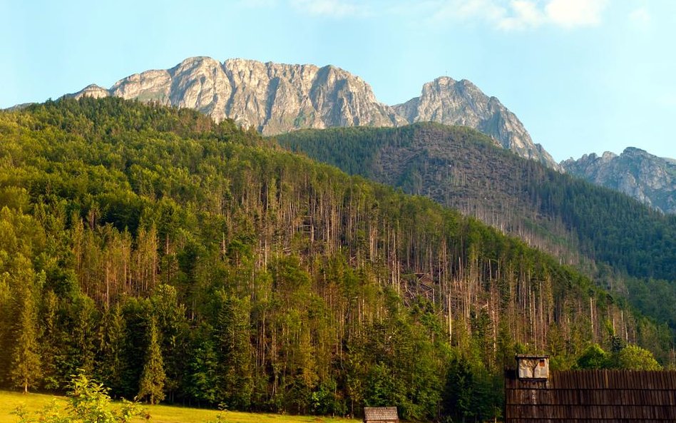
[{"label": "distant bluish-grey rocky mountain at the far right edge", "polygon": [[620,156],[591,153],[561,165],[596,185],[619,190],[664,213],[676,213],[676,160],[628,147]]}]

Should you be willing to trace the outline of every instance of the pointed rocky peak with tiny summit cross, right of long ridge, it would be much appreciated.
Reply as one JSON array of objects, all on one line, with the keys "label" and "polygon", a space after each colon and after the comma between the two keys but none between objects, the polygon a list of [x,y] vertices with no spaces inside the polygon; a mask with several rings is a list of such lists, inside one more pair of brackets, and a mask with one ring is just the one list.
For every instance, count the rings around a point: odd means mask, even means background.
[{"label": "pointed rocky peak with tiny summit cross, right of long ridge", "polygon": [[550,168],[560,166],[531,136],[516,115],[495,97],[488,97],[473,83],[442,76],[423,86],[421,96],[394,106],[410,123],[439,122],[477,129],[494,138],[503,148],[521,157],[538,160]]}]

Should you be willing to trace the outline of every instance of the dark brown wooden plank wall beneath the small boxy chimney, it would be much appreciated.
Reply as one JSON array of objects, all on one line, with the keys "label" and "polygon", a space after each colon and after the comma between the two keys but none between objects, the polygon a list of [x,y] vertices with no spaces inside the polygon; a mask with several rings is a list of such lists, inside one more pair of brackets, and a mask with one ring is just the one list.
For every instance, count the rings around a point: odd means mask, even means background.
[{"label": "dark brown wooden plank wall beneath the small boxy chimney", "polygon": [[506,423],[676,422],[676,371],[574,370],[505,377]]}]

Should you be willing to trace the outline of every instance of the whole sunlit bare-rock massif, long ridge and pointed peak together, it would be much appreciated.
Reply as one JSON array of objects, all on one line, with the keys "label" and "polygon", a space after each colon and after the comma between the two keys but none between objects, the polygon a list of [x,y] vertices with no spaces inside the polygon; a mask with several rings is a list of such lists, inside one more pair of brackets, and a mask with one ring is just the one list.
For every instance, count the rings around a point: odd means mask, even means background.
[{"label": "whole sunlit bare-rock massif, long ridge and pointed peak together", "polygon": [[81,96],[119,96],[195,108],[216,121],[231,118],[265,135],[299,128],[401,126],[419,121],[464,125],[493,137],[519,156],[560,165],[495,97],[471,82],[442,77],[426,83],[420,97],[396,106],[377,101],[366,82],[334,66],[261,63],[208,57],[185,59],[167,70],[145,71],[110,90],[90,85]]}]

